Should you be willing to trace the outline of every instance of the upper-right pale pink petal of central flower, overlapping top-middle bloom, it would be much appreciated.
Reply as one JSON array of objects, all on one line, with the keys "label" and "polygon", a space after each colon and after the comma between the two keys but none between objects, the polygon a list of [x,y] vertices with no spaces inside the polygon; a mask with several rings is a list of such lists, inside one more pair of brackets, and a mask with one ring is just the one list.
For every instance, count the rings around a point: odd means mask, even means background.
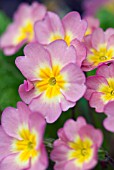
[{"label": "upper-right pale pink petal of central flower, overlapping top-middle bloom", "polygon": [[61,67],[69,64],[76,63],[77,56],[73,46],[68,47],[63,40],[56,40],[49,44],[46,49],[49,51],[52,65],[59,64]]}]

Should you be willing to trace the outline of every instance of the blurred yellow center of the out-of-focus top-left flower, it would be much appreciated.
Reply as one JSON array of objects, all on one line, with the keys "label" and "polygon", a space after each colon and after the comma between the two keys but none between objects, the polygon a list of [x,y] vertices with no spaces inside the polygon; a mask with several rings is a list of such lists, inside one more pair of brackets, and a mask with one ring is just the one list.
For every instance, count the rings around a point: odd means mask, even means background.
[{"label": "blurred yellow center of the out-of-focus top-left flower", "polygon": [[34,38],[33,23],[31,20],[27,20],[20,28],[17,36],[14,38],[14,44],[18,44],[24,39],[31,42]]}]

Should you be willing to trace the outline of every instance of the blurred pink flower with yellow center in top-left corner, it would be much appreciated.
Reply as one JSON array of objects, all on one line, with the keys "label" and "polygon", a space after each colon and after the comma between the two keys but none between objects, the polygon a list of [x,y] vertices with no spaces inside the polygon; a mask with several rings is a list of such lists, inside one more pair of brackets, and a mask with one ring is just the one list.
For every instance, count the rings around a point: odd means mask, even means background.
[{"label": "blurred pink flower with yellow center in top-left corner", "polygon": [[12,55],[25,43],[35,40],[34,23],[44,18],[45,6],[34,2],[22,4],[14,15],[14,21],[1,37],[0,47],[6,55]]}]

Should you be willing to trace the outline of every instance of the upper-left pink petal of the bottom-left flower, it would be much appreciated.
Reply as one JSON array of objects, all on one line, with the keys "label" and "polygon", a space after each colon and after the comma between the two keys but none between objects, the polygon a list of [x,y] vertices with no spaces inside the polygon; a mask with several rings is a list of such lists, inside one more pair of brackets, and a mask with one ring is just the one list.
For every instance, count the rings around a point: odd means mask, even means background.
[{"label": "upper-left pink petal of the bottom-left flower", "polygon": [[28,124],[30,114],[29,108],[22,102],[17,103],[17,109],[13,107],[6,108],[2,113],[1,123],[3,129],[9,136],[19,139],[17,130],[23,122]]}]

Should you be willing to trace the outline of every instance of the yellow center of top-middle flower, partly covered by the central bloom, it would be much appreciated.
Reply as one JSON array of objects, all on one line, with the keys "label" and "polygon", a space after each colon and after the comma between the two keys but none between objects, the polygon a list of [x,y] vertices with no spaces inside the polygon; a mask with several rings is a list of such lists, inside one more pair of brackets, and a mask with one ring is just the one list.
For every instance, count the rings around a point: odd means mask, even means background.
[{"label": "yellow center of top-middle flower, partly covered by the central bloom", "polygon": [[61,39],[64,39],[64,41],[66,41],[67,45],[70,46],[70,43],[73,39],[73,35],[71,32],[67,32],[65,37],[62,38],[62,35],[60,35],[60,33],[52,33],[49,38],[49,43],[51,43],[55,40],[61,40]]}]

